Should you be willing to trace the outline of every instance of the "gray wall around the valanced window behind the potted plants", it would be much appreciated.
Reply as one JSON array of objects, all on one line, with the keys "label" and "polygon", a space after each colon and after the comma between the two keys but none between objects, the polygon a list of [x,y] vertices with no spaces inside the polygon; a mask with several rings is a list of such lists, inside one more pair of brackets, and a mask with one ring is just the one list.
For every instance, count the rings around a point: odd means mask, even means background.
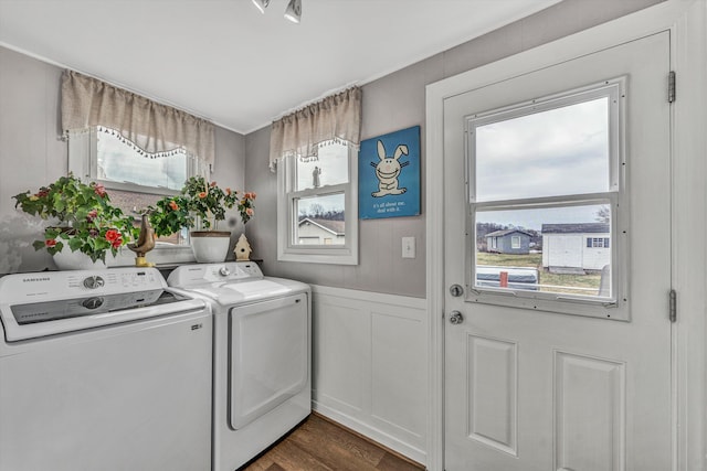
[{"label": "gray wall around the valanced window behind the potted plants", "polygon": [[[0,46],[0,274],[53,268],[51,257],[35,251],[42,222],[14,210],[12,195],[35,191],[67,172],[67,146],[59,139],[62,69]],[[215,130],[213,180],[243,189],[245,138]],[[235,212],[226,220],[234,237],[242,231]]]}]

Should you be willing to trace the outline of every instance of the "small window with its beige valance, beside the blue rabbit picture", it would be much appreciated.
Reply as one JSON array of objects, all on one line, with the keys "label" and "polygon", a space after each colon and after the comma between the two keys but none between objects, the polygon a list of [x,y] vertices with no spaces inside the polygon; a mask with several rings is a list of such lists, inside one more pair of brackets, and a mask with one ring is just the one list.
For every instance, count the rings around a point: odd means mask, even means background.
[{"label": "small window with its beige valance, beside the blue rabbit picture", "polygon": [[358,264],[361,89],[346,89],[272,125],[278,260]]}]

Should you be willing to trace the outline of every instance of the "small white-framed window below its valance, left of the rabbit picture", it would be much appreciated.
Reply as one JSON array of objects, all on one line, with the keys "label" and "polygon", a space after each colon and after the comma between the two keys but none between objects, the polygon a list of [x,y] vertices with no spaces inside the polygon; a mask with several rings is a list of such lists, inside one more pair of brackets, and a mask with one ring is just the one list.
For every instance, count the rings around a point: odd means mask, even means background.
[{"label": "small white-framed window below its valance, left of the rabbit picture", "polygon": [[328,142],[318,158],[277,165],[278,259],[358,264],[357,165],[350,147]]}]

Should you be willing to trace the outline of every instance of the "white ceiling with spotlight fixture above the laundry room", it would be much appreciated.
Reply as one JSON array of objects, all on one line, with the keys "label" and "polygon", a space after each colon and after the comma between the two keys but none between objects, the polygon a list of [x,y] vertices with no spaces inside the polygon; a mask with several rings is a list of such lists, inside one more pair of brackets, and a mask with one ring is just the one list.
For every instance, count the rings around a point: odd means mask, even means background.
[{"label": "white ceiling with spotlight fixture above the laundry room", "polygon": [[247,133],[558,1],[0,0],[0,45]]}]

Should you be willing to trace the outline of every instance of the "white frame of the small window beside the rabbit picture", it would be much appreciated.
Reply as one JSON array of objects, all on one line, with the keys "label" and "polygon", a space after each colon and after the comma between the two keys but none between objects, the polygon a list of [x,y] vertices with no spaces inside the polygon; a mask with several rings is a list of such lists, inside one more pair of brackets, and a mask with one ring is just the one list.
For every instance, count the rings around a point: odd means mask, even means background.
[{"label": "white frame of the small window beside the rabbit picture", "polygon": [[[349,181],[296,191],[297,172],[294,159],[286,157],[277,162],[277,260],[309,264],[358,265],[358,162],[357,151],[346,144]],[[302,197],[327,196],[344,193],[346,242],[337,244],[295,244],[298,215],[295,202]]]}]

